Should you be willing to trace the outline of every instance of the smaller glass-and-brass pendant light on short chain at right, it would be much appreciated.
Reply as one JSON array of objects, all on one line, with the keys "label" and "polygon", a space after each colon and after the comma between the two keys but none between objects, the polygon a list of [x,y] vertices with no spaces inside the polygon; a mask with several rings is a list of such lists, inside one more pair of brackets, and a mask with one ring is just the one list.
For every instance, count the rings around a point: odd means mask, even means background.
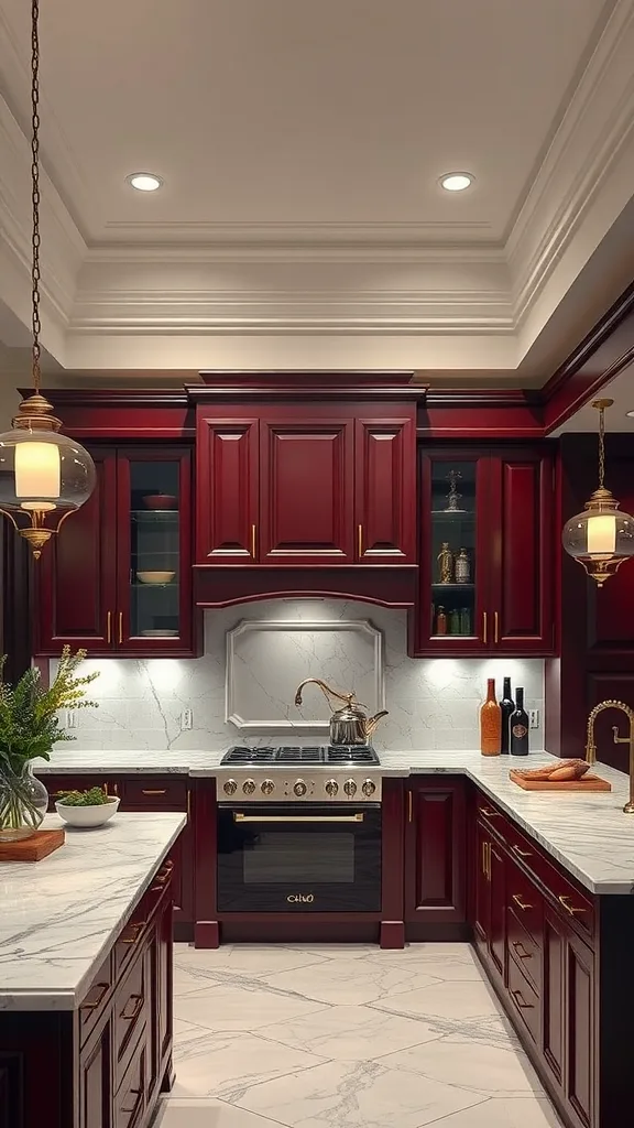
[{"label": "smaller glass-and-brass pendant light on short chain at right", "polygon": [[623,561],[634,556],[634,517],[622,513],[618,502],[605,487],[606,407],[614,399],[596,399],[599,412],[599,486],[585,502],[583,513],[571,517],[562,532],[563,546],[602,588]]}]

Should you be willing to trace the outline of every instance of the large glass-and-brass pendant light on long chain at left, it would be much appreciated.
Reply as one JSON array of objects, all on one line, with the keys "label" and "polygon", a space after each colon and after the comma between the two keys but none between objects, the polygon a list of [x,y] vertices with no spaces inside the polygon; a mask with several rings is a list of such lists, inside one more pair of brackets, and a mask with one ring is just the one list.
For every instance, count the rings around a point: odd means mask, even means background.
[{"label": "large glass-and-brass pendant light on long chain at left", "polygon": [[39,372],[39,2],[32,0],[32,372],[33,395],[23,399],[0,434],[0,512],[28,540],[35,559],[62,521],[95,488],[95,464],[83,447],[59,434],[61,421],[41,394]]}]

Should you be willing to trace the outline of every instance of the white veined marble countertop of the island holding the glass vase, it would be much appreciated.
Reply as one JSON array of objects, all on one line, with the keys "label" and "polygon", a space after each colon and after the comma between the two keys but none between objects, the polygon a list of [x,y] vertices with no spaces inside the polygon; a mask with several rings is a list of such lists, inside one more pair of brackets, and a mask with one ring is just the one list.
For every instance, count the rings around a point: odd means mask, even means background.
[{"label": "white veined marble countertop of the island holding the glass vase", "polygon": [[0,1012],[78,1006],[185,821],[120,813],[90,831],[67,827],[42,862],[0,864]]}]

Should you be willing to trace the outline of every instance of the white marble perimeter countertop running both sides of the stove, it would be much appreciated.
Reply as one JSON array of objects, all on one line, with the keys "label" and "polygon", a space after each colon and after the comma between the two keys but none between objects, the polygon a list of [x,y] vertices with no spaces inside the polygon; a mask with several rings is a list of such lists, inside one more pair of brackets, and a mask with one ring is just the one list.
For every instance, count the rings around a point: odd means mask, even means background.
[{"label": "white marble perimeter countertop running both sides of the stove", "polygon": [[[177,773],[205,777],[217,774],[223,752],[223,749],[105,752],[67,747],[55,749],[50,764],[36,764],[35,772],[44,778],[46,772]],[[475,750],[395,750],[381,751],[379,757],[384,775],[447,772],[468,776],[591,892],[634,892],[634,816],[623,813],[628,782],[622,772],[597,765],[596,773],[610,781],[611,792],[525,792],[510,782],[512,760],[505,756],[483,757]],[[532,752],[529,763],[536,767],[549,759],[553,757],[547,752]]]}]

